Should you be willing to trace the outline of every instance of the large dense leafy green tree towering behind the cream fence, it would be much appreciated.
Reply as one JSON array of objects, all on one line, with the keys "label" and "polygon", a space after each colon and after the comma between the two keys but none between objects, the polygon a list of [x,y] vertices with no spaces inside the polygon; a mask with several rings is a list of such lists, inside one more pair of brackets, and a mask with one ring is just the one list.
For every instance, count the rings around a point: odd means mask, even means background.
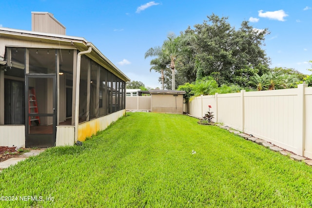
[{"label": "large dense leafy green tree towering behind the cream fence", "polygon": [[219,86],[234,83],[247,87],[254,73],[261,76],[269,71],[269,58],[261,49],[269,32],[253,28],[248,21],[235,30],[227,19],[213,14],[203,24],[196,24],[194,30],[189,27],[185,31],[197,39],[192,42],[196,79],[213,76]]}]

